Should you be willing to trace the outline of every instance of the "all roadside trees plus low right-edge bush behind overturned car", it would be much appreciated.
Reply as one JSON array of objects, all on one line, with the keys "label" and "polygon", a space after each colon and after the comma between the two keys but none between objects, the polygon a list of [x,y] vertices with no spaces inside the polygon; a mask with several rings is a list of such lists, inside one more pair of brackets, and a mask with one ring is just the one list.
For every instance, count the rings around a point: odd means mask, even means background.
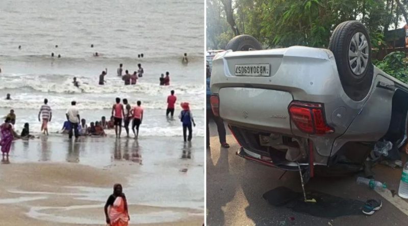
[{"label": "all roadside trees plus low right-edge bush behind overturned car", "polygon": [[[408,0],[207,0],[207,47],[223,49],[233,37],[247,34],[264,48],[327,48],[339,23],[359,20],[378,51],[387,48],[388,30],[408,23],[407,12]],[[408,83],[407,61],[404,52],[393,52],[373,63]]]}]

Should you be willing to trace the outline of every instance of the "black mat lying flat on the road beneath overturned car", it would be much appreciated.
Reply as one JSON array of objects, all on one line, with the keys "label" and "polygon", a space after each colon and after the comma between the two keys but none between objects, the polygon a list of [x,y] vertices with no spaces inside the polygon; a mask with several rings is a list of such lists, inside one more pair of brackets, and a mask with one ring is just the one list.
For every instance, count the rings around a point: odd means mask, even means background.
[{"label": "black mat lying flat on the road beneath overturned car", "polygon": [[286,187],[277,187],[266,192],[264,199],[273,206],[285,206],[295,212],[312,216],[335,218],[339,216],[361,215],[364,202],[328,195],[318,191],[307,193],[308,199],[314,198],[316,203],[304,202],[300,192]]}]

